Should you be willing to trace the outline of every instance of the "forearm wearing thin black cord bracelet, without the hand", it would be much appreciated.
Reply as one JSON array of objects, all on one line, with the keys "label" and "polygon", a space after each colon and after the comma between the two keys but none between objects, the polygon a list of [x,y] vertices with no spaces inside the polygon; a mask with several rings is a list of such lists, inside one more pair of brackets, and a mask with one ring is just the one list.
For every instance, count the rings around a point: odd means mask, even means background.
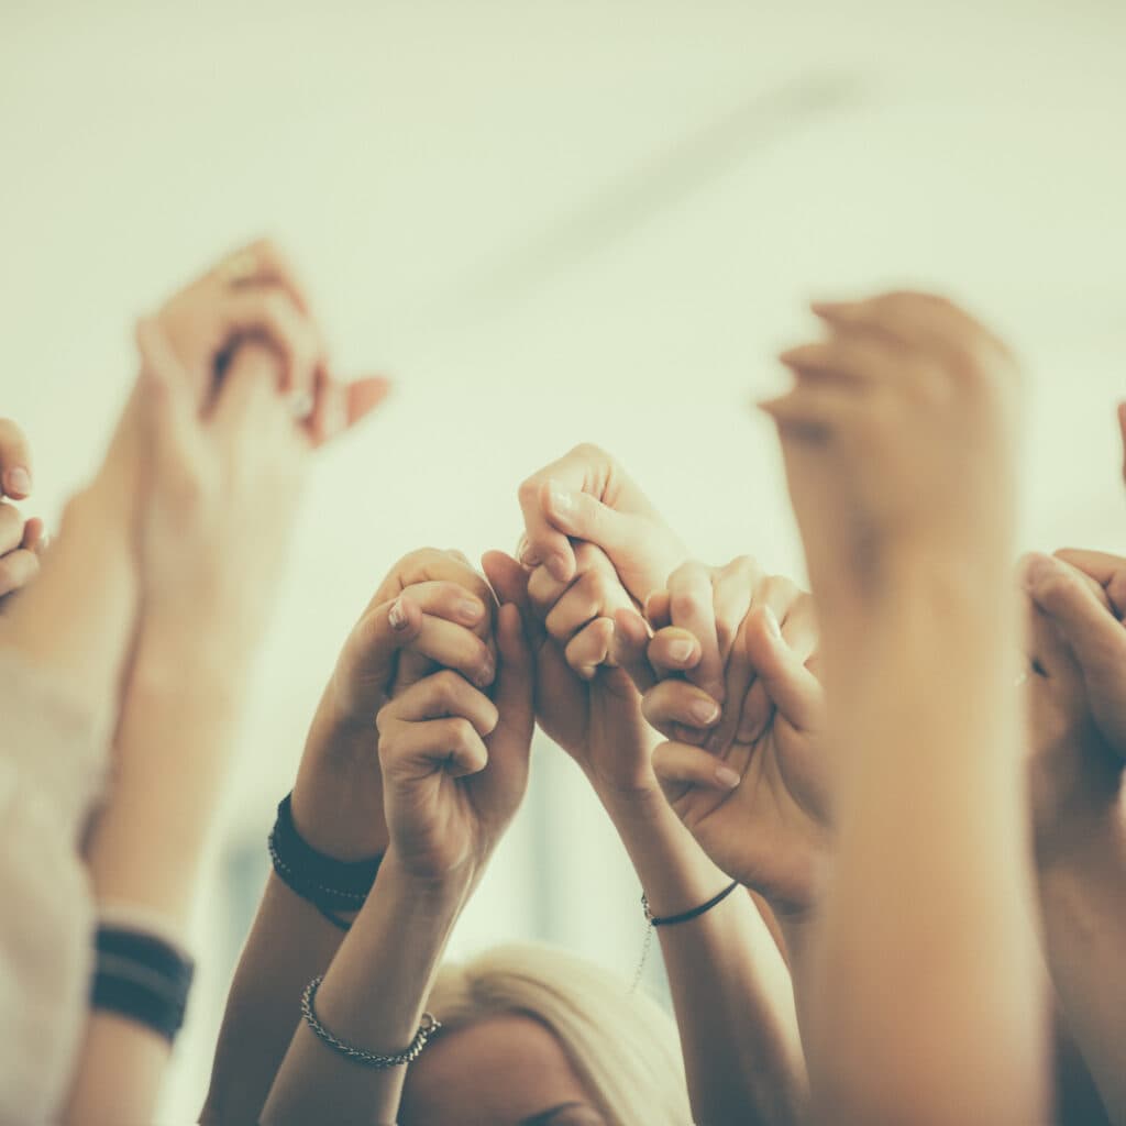
[{"label": "forearm wearing thin black cord bracelet, without the hand", "polygon": [[[679,914],[730,883],[660,794],[605,803],[653,914]],[[742,888],[697,919],[658,929],[701,1126],[803,1120],[804,1063],[789,975]]]}]

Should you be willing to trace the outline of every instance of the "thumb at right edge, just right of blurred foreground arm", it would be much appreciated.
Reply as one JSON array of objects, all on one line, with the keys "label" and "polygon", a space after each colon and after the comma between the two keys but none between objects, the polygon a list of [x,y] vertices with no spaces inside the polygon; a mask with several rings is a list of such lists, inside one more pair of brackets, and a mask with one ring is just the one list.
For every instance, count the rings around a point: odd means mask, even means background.
[{"label": "thumb at right edge, just right of blurred foreground arm", "polygon": [[1051,555],[1033,555],[1025,564],[1025,587],[1071,645],[1084,677],[1120,676],[1126,663],[1126,628],[1085,575]]}]

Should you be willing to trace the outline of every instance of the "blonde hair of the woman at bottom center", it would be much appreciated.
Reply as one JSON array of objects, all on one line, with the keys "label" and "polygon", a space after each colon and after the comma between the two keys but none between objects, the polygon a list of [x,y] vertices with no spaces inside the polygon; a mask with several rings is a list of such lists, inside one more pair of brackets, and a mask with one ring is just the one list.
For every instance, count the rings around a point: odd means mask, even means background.
[{"label": "blonde hair of the woman at bottom center", "polygon": [[549,946],[511,944],[440,969],[428,1008],[454,1030],[521,1013],[546,1026],[610,1126],[692,1120],[677,1027],[652,998]]}]

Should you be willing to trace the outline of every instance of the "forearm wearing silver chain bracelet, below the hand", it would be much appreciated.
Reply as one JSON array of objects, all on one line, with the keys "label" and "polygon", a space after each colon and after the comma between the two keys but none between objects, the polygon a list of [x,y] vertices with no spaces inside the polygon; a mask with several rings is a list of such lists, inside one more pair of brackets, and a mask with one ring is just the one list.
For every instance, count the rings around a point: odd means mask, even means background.
[{"label": "forearm wearing silver chain bracelet, below the hand", "polygon": [[[402,1052],[414,1038],[471,882],[411,878],[387,854],[367,903],[316,995],[316,1015],[367,1052]],[[270,1090],[263,1124],[393,1121],[405,1069],[358,1066],[297,1028]]]}]

